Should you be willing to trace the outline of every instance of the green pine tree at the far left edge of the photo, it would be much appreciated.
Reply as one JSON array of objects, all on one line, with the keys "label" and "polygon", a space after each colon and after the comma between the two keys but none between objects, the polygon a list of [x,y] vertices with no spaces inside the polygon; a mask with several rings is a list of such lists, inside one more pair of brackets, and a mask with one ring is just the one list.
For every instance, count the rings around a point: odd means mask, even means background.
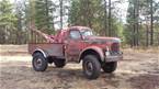
[{"label": "green pine tree at the far left edge of the photo", "polygon": [[0,1],[0,43],[13,43],[16,18],[9,0]]}]

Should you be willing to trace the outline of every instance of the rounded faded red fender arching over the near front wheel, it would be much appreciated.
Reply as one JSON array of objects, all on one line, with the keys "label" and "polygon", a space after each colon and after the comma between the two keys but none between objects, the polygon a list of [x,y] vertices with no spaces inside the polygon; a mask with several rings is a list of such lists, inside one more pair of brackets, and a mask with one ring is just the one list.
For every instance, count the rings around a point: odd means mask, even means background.
[{"label": "rounded faded red fender arching over the near front wheel", "polygon": [[[84,48],[84,49],[80,53],[80,55],[79,55],[79,63],[80,63],[80,60],[83,58],[83,56],[86,55],[86,53],[89,52],[89,51],[95,52],[95,53],[99,55],[101,62],[104,62],[103,49],[100,48],[100,47],[98,47],[98,46],[90,46],[90,47]],[[89,53],[88,53],[88,54],[89,54]]]}]

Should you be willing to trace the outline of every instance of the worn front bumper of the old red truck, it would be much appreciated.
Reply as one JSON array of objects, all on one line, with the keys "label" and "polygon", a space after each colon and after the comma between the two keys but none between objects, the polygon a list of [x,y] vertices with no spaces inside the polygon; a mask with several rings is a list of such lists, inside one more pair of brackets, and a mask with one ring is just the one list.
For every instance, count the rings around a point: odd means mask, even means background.
[{"label": "worn front bumper of the old red truck", "polygon": [[117,62],[123,59],[122,52],[105,52],[105,62]]}]

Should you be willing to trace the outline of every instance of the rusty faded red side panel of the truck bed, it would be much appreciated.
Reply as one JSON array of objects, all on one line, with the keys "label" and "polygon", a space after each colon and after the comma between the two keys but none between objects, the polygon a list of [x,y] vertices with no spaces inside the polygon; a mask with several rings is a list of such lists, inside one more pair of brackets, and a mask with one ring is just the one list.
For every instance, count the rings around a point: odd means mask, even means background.
[{"label": "rusty faded red side panel of the truck bed", "polygon": [[33,54],[36,49],[44,51],[48,56],[64,57],[63,43],[29,43],[30,54]]}]

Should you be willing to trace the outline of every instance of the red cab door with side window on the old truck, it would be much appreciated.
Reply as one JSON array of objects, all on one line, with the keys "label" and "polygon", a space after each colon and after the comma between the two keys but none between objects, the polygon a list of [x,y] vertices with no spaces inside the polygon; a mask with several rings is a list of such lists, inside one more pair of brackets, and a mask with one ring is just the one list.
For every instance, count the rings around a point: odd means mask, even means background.
[{"label": "red cab door with side window on the old truck", "polygon": [[78,60],[82,46],[82,36],[79,30],[70,30],[66,43],[66,55],[68,60]]}]

